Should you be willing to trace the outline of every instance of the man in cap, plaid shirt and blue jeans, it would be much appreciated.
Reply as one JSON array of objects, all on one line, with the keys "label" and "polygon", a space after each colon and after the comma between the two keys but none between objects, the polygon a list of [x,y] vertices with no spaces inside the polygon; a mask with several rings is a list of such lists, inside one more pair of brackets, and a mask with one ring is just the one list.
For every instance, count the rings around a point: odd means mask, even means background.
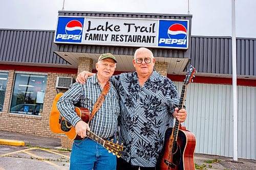
[{"label": "man in cap, plaid shirt and blue jeans", "polygon": [[[116,69],[116,62],[112,54],[102,54],[96,63],[97,74],[88,78],[85,84],[74,83],[57,102],[61,115],[75,127],[78,135],[84,137],[82,140],[74,140],[70,169],[116,169],[116,156],[86,137],[88,129],[105,140],[115,138],[119,103],[117,91],[109,79]],[[108,84],[110,85],[109,91],[88,125],[77,116],[74,104],[80,102],[81,107],[88,108],[92,112],[102,90]]]}]

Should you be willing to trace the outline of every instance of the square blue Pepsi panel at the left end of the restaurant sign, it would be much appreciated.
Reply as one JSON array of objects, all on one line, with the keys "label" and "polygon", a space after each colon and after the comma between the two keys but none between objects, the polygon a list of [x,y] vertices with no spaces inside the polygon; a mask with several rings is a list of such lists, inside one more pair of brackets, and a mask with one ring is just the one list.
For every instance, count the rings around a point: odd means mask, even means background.
[{"label": "square blue Pepsi panel at the left end of the restaurant sign", "polygon": [[54,42],[81,43],[84,17],[58,17]]}]

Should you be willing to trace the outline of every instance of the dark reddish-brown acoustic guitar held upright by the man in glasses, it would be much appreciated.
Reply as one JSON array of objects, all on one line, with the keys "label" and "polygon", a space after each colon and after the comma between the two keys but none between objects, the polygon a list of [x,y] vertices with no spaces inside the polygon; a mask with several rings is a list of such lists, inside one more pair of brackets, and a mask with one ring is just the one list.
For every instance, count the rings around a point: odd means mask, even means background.
[{"label": "dark reddish-brown acoustic guitar held upright by the man in glasses", "polygon": [[[186,79],[183,82],[179,109],[182,109],[185,102],[187,84],[193,82],[196,69],[189,65]],[[195,169],[194,152],[196,148],[195,135],[182,127],[179,120],[175,120],[174,128],[167,128],[165,131],[163,149],[159,154],[156,169],[161,170],[191,170]]]}]

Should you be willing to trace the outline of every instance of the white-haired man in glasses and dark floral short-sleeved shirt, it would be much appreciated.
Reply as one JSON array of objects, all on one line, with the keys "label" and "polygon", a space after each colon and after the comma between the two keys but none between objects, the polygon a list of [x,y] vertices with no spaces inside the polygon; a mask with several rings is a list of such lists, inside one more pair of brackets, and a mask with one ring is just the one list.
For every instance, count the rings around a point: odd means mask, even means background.
[{"label": "white-haired man in glasses and dark floral short-sleeved shirt", "polygon": [[[117,169],[155,169],[165,130],[173,126],[174,117],[184,122],[187,113],[185,109],[178,111],[177,87],[154,70],[155,58],[150,50],[136,50],[133,65],[135,72],[110,78],[119,95],[119,142],[125,147],[125,153],[117,159]],[[93,74],[83,71],[76,80],[84,83],[88,76]]]}]

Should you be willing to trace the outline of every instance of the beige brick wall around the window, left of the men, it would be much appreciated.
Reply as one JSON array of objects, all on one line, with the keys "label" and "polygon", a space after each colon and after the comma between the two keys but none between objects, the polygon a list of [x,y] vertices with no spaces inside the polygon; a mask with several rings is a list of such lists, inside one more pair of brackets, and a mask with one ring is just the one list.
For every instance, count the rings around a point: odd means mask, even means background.
[{"label": "beige brick wall around the window, left of the men", "polygon": [[[92,71],[92,59],[81,59],[81,61],[82,62],[79,64],[80,70]],[[77,75],[48,72],[44,106],[42,108],[41,116],[9,113],[14,75],[14,70],[9,70],[3,111],[0,112],[0,119],[2,120],[0,130],[59,138],[60,135],[53,134],[49,127],[52,102],[57,94],[55,89],[56,79],[58,76],[76,78]]]}]

